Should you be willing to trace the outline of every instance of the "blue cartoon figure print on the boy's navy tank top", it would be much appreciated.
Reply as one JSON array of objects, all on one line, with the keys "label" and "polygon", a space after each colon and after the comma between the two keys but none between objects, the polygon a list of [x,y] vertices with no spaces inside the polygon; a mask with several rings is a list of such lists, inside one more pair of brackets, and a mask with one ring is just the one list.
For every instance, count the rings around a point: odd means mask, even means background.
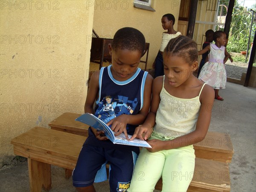
[{"label": "blue cartoon figure print on the boy's navy tank top", "polygon": [[137,106],[137,98],[134,101],[128,100],[128,97],[105,96],[101,102],[96,105],[95,116],[103,122],[108,123],[111,119],[122,114],[132,114]]}]

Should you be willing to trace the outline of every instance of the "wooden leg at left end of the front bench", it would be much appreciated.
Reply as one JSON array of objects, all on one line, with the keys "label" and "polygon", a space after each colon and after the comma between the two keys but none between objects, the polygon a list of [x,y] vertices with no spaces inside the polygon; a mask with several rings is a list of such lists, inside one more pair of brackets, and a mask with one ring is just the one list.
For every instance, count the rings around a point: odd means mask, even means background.
[{"label": "wooden leg at left end of the front bench", "polygon": [[51,165],[28,158],[29,185],[31,192],[41,192],[42,187],[49,191],[52,188]]}]

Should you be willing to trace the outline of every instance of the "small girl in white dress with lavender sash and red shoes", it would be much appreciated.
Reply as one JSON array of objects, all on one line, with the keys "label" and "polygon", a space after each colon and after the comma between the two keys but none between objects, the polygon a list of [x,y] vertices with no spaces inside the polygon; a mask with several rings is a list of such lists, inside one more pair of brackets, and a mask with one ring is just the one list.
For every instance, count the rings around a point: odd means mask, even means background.
[{"label": "small girl in white dress with lavender sash and red shoes", "polygon": [[209,51],[209,60],[202,67],[198,79],[212,86],[215,90],[215,99],[220,101],[224,99],[218,95],[218,91],[219,89],[225,89],[227,82],[224,63],[226,63],[227,59],[230,57],[226,47],[224,47],[227,41],[226,37],[227,35],[223,31],[214,32],[213,41],[215,41],[215,44],[210,44],[198,52],[198,55],[201,55]]}]

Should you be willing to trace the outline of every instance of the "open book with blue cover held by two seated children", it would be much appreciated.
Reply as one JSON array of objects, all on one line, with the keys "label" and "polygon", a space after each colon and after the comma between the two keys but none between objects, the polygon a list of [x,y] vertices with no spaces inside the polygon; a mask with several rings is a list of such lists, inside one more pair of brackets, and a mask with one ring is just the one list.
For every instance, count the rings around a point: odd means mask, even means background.
[{"label": "open book with blue cover held by two seated children", "polygon": [[[114,144],[122,144],[122,145],[133,145],[138,147],[148,147],[151,148],[151,146],[144,140],[140,140],[137,138],[134,138],[134,140],[130,141],[125,138],[125,134],[120,134],[118,136],[114,136],[114,132],[111,130],[111,128],[103,122],[98,117],[94,116],[90,113],[85,113],[78,118],[76,118],[76,121],[83,122],[87,125],[90,125],[93,128],[100,129],[105,132],[105,136],[108,137],[109,140],[111,140]],[[128,135],[129,138],[131,138],[131,135]]]}]

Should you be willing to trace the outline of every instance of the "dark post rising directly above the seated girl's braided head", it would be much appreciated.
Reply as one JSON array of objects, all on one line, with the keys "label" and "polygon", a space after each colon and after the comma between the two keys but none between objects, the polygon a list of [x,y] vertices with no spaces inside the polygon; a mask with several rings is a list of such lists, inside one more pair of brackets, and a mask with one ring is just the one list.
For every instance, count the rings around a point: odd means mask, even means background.
[{"label": "dark post rising directly above the seated girl's braided head", "polygon": [[188,28],[186,32],[186,36],[188,36],[189,38],[193,38],[193,35],[194,35],[197,7],[198,7],[198,0],[192,0],[190,4],[190,9],[189,9],[189,23],[188,23]]}]

